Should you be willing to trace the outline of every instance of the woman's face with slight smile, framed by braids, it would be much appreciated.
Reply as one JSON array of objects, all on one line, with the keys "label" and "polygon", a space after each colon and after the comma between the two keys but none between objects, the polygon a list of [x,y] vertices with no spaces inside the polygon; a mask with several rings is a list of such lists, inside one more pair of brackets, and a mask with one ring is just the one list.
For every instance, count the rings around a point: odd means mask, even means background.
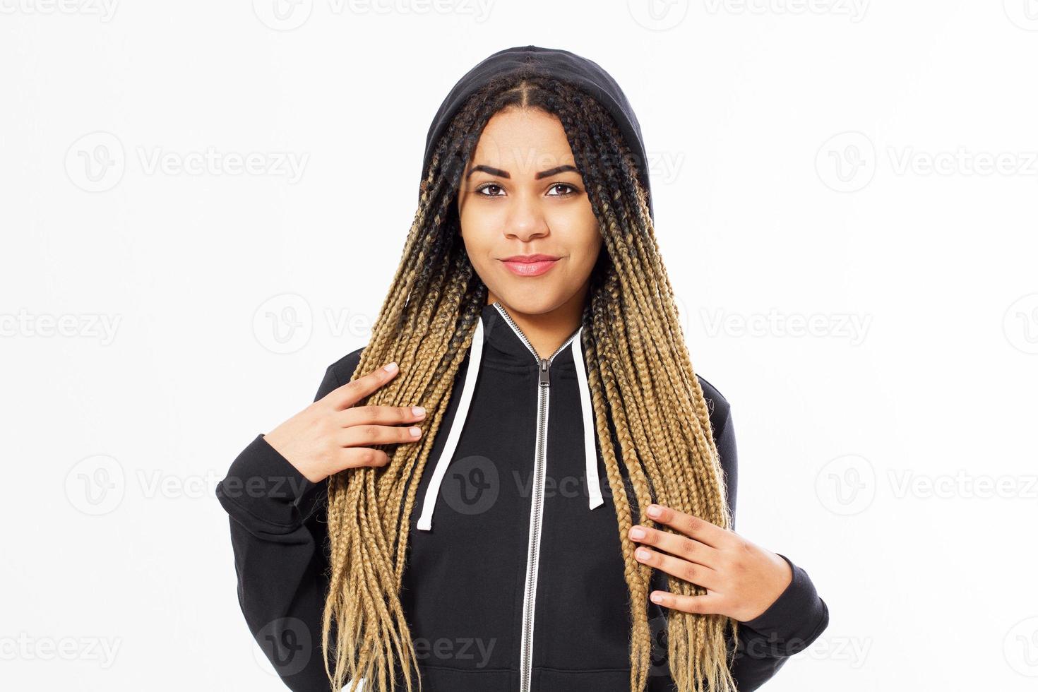
[{"label": "woman's face with slight smile, framed by braids", "polygon": [[[494,114],[467,162],[458,214],[489,302],[525,314],[583,304],[602,237],[556,116],[518,108]],[[556,259],[511,259],[537,254]]]}]

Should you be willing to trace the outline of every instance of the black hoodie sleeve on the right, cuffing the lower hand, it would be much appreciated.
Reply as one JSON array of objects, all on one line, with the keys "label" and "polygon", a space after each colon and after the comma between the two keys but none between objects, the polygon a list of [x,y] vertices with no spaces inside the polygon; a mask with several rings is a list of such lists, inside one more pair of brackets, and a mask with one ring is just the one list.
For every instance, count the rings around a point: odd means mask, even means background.
[{"label": "black hoodie sleeve on the right, cuffing the lower hand", "polygon": [[[714,414],[721,421],[714,423],[715,416],[711,416],[734,528],[738,454],[731,407],[719,394],[714,399]],[[778,555],[792,569],[793,580],[767,610],[739,624],[738,642],[733,643],[729,638],[729,651],[735,648],[732,675],[739,692],[752,692],[764,685],[789,657],[810,646],[829,624],[828,607],[819,598],[808,573],[782,553]]]}]

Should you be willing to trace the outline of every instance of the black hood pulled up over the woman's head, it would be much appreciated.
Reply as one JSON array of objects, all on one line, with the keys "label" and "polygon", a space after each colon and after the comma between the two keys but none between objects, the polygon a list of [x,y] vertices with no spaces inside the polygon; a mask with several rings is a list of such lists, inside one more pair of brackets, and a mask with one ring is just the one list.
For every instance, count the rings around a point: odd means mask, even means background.
[{"label": "black hood pulled up over the woman's head", "polygon": [[583,89],[601,103],[617,122],[624,140],[637,159],[641,184],[648,198],[649,216],[652,216],[649,168],[645,144],[641,141],[641,128],[638,126],[638,119],[634,116],[634,110],[628,103],[627,96],[624,95],[617,81],[597,62],[556,48],[541,48],[539,46],[507,48],[485,58],[458,80],[446,99],[440,104],[440,108],[436,111],[433,122],[429,127],[429,134],[426,136],[426,156],[421,163],[422,174],[429,169],[437,141],[446,132],[450,118],[461,109],[465,100],[492,78],[503,73],[550,75]]}]

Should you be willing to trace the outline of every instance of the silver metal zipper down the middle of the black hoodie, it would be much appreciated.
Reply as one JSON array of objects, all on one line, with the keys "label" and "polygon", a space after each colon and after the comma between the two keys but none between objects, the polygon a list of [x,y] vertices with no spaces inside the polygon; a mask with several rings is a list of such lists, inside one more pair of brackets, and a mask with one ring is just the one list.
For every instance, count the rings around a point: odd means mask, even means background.
[{"label": "silver metal zipper down the middle of the black hoodie", "polygon": [[534,496],[530,500],[529,510],[529,538],[526,545],[526,590],[522,602],[522,636],[520,641],[520,666],[519,666],[519,692],[529,692],[530,677],[534,663],[534,610],[537,597],[537,568],[541,554],[541,519],[544,515],[544,467],[547,464],[545,451],[548,445],[548,386],[551,384],[548,378],[548,368],[551,361],[563,352],[573,338],[580,331],[570,335],[566,341],[547,358],[541,358],[537,350],[522,333],[519,326],[512,320],[500,303],[494,303],[494,307],[500,312],[504,321],[509,323],[516,335],[522,339],[529,352],[534,354],[534,361],[538,365],[538,399],[537,399],[537,451],[534,455]]}]

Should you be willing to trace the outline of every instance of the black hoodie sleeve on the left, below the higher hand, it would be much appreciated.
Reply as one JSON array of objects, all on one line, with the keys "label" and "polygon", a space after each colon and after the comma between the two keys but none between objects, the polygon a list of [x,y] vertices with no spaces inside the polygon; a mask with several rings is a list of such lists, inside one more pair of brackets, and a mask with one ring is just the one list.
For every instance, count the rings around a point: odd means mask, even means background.
[{"label": "black hoodie sleeve on the left, below the higher hand", "polygon": [[[359,360],[357,351],[330,365],[315,400],[348,382]],[[216,497],[229,518],[238,602],[253,638],[289,689],[328,692],[321,653],[327,480],[306,480],[260,434],[231,463]]]}]

